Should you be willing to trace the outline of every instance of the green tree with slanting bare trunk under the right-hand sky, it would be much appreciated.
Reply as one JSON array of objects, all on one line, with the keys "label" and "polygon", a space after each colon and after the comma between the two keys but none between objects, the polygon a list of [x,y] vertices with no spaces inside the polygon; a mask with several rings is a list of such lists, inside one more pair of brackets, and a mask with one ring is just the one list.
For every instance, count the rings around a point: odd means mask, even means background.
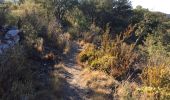
[{"label": "green tree with slanting bare trunk under the right-hand sky", "polygon": [[138,37],[136,39],[135,45],[143,41],[144,38],[149,34],[158,35],[166,33],[166,28],[162,21],[163,18],[163,14],[154,13],[150,11],[143,12],[142,19],[140,19],[139,22],[135,24],[135,33]]}]

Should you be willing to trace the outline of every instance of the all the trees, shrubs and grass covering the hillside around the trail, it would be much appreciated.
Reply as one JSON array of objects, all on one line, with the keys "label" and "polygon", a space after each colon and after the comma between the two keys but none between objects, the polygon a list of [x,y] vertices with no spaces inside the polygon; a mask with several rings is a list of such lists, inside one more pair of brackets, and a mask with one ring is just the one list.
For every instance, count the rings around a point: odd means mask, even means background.
[{"label": "all the trees, shrubs and grass covering the hillside around the trail", "polygon": [[129,0],[0,3],[0,46],[9,27],[20,30],[20,42],[0,54],[0,99],[63,99],[67,80],[55,65],[79,43],[72,62],[82,66],[89,98],[169,100],[169,22]]}]

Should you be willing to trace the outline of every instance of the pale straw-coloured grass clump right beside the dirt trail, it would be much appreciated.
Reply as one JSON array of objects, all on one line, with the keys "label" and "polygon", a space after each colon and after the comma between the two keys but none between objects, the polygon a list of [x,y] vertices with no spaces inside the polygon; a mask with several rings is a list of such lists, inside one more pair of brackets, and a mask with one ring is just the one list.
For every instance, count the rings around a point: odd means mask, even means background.
[{"label": "pale straw-coloured grass clump right beside the dirt trail", "polygon": [[112,96],[112,89],[118,85],[118,82],[114,78],[101,71],[85,69],[80,77],[82,85],[94,92],[92,93],[94,100],[102,100],[101,98]]}]

